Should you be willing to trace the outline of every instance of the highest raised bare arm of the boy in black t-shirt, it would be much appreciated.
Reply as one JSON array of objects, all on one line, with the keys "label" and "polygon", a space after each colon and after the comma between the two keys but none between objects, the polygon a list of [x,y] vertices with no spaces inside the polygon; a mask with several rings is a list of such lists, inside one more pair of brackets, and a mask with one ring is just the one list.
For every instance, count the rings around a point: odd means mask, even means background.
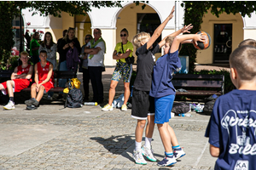
[{"label": "highest raised bare arm of the boy in black t-shirt", "polygon": [[154,34],[152,35],[152,37],[150,37],[150,39],[149,39],[148,42],[147,42],[147,49],[150,48],[150,47],[153,45],[153,43],[155,42],[155,40],[156,40],[158,37],[160,37],[162,31],[163,31],[164,28],[166,27],[166,24],[169,22],[169,20],[172,19],[174,10],[175,10],[175,6],[173,6],[172,12],[171,12],[171,14],[169,14],[169,16],[166,18],[166,20],[165,20],[162,24],[160,24],[160,26],[158,26],[158,27],[156,28],[156,30],[154,31]]}]

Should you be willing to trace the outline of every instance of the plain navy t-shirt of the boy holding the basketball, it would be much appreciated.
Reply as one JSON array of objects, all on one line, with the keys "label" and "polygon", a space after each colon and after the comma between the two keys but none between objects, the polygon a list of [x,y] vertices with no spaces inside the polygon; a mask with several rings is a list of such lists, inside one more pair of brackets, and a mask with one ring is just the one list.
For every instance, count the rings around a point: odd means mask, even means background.
[{"label": "plain navy t-shirt of the boy holding the basketball", "polygon": [[161,98],[167,95],[176,94],[172,85],[172,74],[181,68],[178,58],[178,50],[172,54],[166,54],[157,59],[154,65],[152,85],[149,95],[154,98]]}]

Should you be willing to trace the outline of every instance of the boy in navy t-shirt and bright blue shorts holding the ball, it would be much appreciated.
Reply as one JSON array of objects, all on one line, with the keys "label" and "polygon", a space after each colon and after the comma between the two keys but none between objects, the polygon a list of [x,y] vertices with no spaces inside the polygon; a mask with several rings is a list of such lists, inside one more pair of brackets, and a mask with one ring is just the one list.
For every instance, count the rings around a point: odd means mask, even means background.
[{"label": "boy in navy t-shirt and bright blue shorts holding the ball", "polygon": [[[178,48],[181,43],[204,42],[205,36],[201,34],[187,34],[177,37],[167,37],[165,55],[161,56],[154,65],[152,86],[149,95],[154,97],[154,123],[157,123],[162,143],[165,147],[166,157],[157,163],[165,167],[175,164],[176,159],[185,155],[177,143],[176,135],[168,124],[171,119],[172,104],[176,90],[172,85],[172,75],[181,67],[178,58]],[[173,147],[173,150],[172,150]]]}]

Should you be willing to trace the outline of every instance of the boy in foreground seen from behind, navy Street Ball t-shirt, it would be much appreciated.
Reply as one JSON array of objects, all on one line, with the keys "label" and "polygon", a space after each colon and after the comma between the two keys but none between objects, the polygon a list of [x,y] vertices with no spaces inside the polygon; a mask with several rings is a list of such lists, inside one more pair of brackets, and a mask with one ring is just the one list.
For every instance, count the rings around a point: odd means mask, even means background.
[{"label": "boy in foreground seen from behind, navy Street Ball t-shirt", "polygon": [[241,46],[230,54],[230,78],[236,90],[218,97],[205,136],[218,157],[214,169],[255,170],[256,48]]}]

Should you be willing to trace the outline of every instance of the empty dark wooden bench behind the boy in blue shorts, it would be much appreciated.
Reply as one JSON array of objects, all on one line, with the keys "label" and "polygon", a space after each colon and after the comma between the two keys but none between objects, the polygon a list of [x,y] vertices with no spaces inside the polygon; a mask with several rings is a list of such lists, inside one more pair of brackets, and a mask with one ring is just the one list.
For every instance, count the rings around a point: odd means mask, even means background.
[{"label": "empty dark wooden bench behind the boy in blue shorts", "polygon": [[182,88],[188,91],[176,92],[176,95],[207,96],[224,94],[224,75],[177,74],[173,76],[172,84],[176,90]]}]

